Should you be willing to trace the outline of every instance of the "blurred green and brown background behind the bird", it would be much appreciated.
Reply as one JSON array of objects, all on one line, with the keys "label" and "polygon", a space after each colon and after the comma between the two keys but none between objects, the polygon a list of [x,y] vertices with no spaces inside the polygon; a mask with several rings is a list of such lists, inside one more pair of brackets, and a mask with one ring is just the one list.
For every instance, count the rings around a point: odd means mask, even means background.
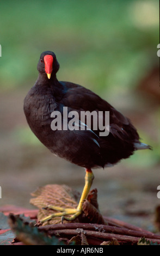
[{"label": "blurred green and brown background behind the bird", "polygon": [[54,51],[57,78],[93,90],[132,120],[153,150],[94,170],[103,215],[150,230],[160,204],[159,3],[156,0],[1,1],[0,204],[33,208],[46,184],[82,191],[84,170],[52,155],[30,131],[23,99],[40,53]]}]

